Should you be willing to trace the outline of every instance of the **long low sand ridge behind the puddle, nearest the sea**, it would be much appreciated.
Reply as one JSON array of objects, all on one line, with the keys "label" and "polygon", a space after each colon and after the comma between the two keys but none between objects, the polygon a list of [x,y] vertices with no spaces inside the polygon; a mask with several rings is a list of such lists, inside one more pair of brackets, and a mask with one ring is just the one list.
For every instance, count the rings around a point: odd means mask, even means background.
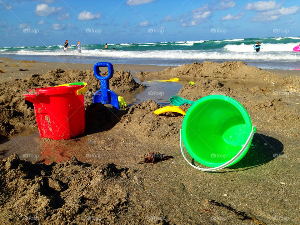
[{"label": "long low sand ridge behind the puddle, nearest the sea", "polygon": [[257,79],[273,83],[282,78],[273,73],[258,69],[254,66],[247,66],[245,63],[239,62],[207,62],[193,64],[183,64],[176,68],[167,68],[158,72],[140,72],[139,78],[151,78],[151,76],[159,76],[166,78],[240,78],[240,79]]}]

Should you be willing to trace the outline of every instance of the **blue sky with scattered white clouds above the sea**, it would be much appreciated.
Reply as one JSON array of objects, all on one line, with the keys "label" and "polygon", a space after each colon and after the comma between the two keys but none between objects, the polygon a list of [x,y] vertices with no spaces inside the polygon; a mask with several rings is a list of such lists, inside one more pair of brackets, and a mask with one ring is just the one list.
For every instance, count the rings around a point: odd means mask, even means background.
[{"label": "blue sky with scattered white clouds above the sea", "polygon": [[0,47],[300,36],[299,3],[0,0]]}]

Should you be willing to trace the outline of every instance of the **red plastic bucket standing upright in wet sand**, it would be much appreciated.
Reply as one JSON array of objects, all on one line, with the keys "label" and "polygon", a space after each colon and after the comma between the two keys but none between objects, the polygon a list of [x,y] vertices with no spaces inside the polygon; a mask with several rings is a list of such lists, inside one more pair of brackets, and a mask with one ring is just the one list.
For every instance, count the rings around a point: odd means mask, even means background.
[{"label": "red plastic bucket standing upright in wet sand", "polygon": [[41,138],[70,139],[84,133],[84,99],[83,94],[76,93],[80,88],[81,85],[36,88],[24,94],[25,100],[33,103]]}]

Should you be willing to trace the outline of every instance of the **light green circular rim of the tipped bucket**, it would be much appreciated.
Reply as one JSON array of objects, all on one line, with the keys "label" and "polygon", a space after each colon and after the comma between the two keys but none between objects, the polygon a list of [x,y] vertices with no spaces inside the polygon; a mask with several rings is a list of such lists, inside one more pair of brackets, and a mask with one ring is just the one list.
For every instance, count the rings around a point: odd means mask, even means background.
[{"label": "light green circular rim of the tipped bucket", "polygon": [[[202,104],[202,103],[207,102],[207,101],[213,101],[213,100],[223,100],[223,101],[226,101],[227,103],[231,104],[233,107],[235,107],[242,114],[242,117],[243,117],[243,119],[245,121],[246,128],[247,128],[247,136],[249,136],[250,133],[252,132],[252,122],[251,122],[251,118],[250,118],[247,110],[242,106],[241,103],[239,103],[234,98],[228,97],[226,95],[208,95],[208,96],[205,96],[203,98],[198,99],[187,110],[187,113],[186,113],[186,115],[183,118],[183,123],[182,123],[182,139],[183,139],[183,143],[184,143],[184,145],[185,145],[185,147],[187,149],[187,152],[192,156],[192,158],[194,158],[198,163],[201,163],[201,164],[203,164],[205,166],[208,166],[208,167],[217,167],[217,166],[222,165],[223,163],[210,163],[210,162],[207,162],[207,161],[203,161],[199,156],[197,156],[193,152],[192,146],[190,146],[189,143],[187,143],[187,141],[186,141],[187,140],[187,130],[189,129],[188,126],[187,126],[187,122],[189,121],[189,115],[193,111],[194,108],[197,108],[197,106],[199,104]],[[231,163],[230,165],[233,165],[233,164],[237,163],[239,160],[241,160],[244,157],[244,155],[247,153],[250,145],[251,145],[251,142],[248,144],[248,147],[244,151],[244,153],[239,158],[237,158],[237,160],[235,160],[233,163]],[[238,153],[238,151],[236,152],[236,154],[237,153]]]}]

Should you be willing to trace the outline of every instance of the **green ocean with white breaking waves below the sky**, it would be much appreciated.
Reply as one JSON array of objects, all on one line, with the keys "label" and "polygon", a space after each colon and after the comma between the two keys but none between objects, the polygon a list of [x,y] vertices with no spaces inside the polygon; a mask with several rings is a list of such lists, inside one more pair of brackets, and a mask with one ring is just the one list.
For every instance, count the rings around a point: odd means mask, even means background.
[{"label": "green ocean with white breaking waves below the sky", "polygon": [[[259,41],[262,49],[257,53],[253,45]],[[121,43],[81,45],[75,42],[63,52],[63,45],[3,47],[0,56],[17,60],[35,60],[59,63],[143,64],[179,66],[203,61],[244,61],[247,65],[264,69],[300,69],[300,52],[293,52],[300,37],[245,38],[228,40],[200,40],[155,43]],[[72,46],[73,44],[73,46]],[[113,50],[115,48],[115,50]]]}]

